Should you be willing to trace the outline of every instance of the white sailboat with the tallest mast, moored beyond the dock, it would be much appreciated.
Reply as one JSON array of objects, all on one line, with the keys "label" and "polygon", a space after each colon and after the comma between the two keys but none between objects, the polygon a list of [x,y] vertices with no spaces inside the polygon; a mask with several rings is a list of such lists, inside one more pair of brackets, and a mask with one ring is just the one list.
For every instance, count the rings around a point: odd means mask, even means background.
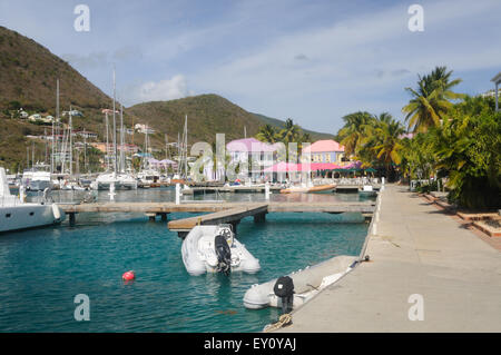
[{"label": "white sailboat with the tallest mast, moored beyond the dock", "polygon": [[[121,122],[121,127],[120,127],[120,168],[118,167],[118,155],[117,155],[117,120],[115,117],[116,114],[116,108],[115,108],[115,102],[116,102],[116,83],[115,83],[115,69],[114,69],[114,108],[112,108],[112,114],[114,114],[114,131],[112,131],[112,137],[114,137],[114,168],[112,171],[109,171],[109,159],[108,159],[108,171],[100,174],[97,178],[96,178],[96,183],[94,184],[94,188],[97,188],[98,190],[109,190],[109,189],[116,189],[116,190],[120,190],[120,189],[137,189],[137,180],[136,178],[129,174],[125,171],[125,145],[124,145],[124,107],[121,106],[121,110],[120,110],[120,122]],[[106,111],[106,152],[107,156],[109,155],[109,149],[108,149],[108,112]],[[111,187],[114,186],[114,187]]]}]

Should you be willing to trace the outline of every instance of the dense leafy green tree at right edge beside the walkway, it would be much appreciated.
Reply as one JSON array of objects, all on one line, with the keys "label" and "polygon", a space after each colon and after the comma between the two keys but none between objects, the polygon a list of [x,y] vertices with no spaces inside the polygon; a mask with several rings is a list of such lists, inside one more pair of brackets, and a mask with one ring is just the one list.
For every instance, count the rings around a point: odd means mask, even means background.
[{"label": "dense leafy green tree at right edge beside the walkway", "polygon": [[436,167],[449,176],[450,200],[469,208],[499,208],[501,114],[483,98],[468,98],[433,134]]}]

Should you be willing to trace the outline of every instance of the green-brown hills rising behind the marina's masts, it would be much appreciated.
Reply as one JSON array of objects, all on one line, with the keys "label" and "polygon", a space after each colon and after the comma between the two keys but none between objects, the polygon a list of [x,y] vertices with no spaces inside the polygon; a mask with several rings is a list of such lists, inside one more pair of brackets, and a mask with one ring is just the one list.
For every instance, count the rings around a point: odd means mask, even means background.
[{"label": "green-brown hills rising behind the marina's masts", "polygon": [[[27,148],[31,149],[33,142],[35,160],[43,160],[46,142],[26,136],[39,136],[45,130],[50,134],[51,126],[40,126],[21,118],[20,108],[28,115],[56,116],[57,79],[60,82],[60,112],[69,110],[70,106],[81,111],[82,117],[73,117],[73,129],[96,132],[97,140],[104,141],[106,129],[101,110],[110,108],[112,99],[47,48],[0,27],[0,166],[13,171],[22,170],[28,165]],[[147,124],[154,128],[156,132],[149,137],[151,147],[161,150],[166,134],[169,141],[177,141],[186,115],[189,144],[212,144],[218,132],[226,135],[226,141],[243,138],[245,131],[247,137],[253,137],[263,125],[284,125],[284,121],[250,114],[217,95],[138,103],[124,109],[124,121],[129,128],[135,124]],[[67,119],[61,115],[63,125]],[[307,132],[313,139],[332,137]],[[132,136],[126,135],[126,139],[128,144],[141,147],[145,136],[135,132]]]}]

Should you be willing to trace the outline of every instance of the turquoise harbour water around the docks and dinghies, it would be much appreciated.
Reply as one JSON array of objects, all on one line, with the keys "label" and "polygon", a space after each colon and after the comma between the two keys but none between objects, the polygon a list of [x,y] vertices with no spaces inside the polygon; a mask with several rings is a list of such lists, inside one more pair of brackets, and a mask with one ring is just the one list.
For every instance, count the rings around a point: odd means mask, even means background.
[{"label": "turquoise harbour water around the docks and dinghies", "polygon": [[[302,196],[358,200],[356,194]],[[99,194],[100,200],[108,198]],[[173,200],[173,191],[120,191],[116,199]],[[194,215],[169,218],[187,216]],[[259,332],[276,321],[278,309],[245,309],[242,299],[250,285],[336,255],[357,255],[366,231],[356,214],[268,214],[264,224],[246,218],[237,238],[259,258],[262,270],[229,277],[189,276],[177,234],[138,214],[81,214],[75,227],[63,223],[0,235],[0,332]],[[136,280],[126,284],[121,275],[129,269]],[[73,318],[78,294],[89,296],[89,322]]]}]

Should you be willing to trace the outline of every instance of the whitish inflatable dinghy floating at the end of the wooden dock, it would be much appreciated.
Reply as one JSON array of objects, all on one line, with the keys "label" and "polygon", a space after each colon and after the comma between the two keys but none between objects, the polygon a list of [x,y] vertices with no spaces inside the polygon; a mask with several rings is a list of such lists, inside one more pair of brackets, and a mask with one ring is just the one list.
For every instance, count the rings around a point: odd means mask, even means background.
[{"label": "whitish inflatable dinghy floating at the end of the wooden dock", "polygon": [[193,276],[255,274],[261,269],[259,260],[235,239],[230,225],[195,226],[183,240],[181,254],[186,270]]}]

